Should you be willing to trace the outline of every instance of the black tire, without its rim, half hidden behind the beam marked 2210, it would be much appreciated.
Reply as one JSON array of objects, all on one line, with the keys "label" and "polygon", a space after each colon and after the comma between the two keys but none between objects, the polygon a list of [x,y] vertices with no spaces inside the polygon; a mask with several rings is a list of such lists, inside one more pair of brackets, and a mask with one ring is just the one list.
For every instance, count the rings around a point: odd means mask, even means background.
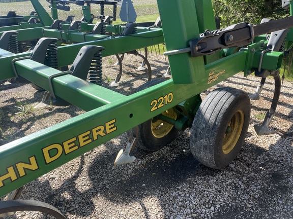
[{"label": "black tire, without its rim, half hidden behind the beam marked 2210", "polygon": [[[137,91],[147,89],[163,81],[165,80],[148,81],[147,83],[141,85],[137,89]],[[147,122],[144,122],[127,132],[128,136],[136,137],[137,147],[145,151],[157,151],[163,148],[165,145],[167,145],[174,139],[174,137],[176,136],[178,132],[178,130],[174,126],[172,126],[171,130],[165,136],[159,137],[159,138],[156,137],[153,134],[152,128],[151,128],[153,119],[150,119]]]}]

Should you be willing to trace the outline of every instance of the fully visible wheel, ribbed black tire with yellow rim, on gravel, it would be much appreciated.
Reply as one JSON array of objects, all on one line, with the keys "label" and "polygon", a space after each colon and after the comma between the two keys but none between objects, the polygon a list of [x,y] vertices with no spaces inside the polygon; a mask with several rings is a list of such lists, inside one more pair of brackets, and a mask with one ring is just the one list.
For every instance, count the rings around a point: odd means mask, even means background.
[{"label": "fully visible wheel, ribbed black tire with yellow rim, on gravel", "polygon": [[193,156],[214,169],[223,169],[231,163],[244,142],[250,108],[250,99],[243,91],[234,88],[212,91],[200,104],[192,124]]}]

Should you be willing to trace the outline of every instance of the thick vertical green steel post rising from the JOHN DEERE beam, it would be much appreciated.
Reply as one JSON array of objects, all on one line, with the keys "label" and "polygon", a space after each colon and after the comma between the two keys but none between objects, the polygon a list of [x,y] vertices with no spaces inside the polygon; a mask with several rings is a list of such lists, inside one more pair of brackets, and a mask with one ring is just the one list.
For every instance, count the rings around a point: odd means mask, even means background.
[{"label": "thick vertical green steel post rising from the JOHN DEERE beam", "polygon": [[[200,33],[194,0],[157,2],[167,51],[189,47],[188,41],[198,38]],[[190,84],[205,78],[203,57],[182,53],[170,55],[168,59],[174,84]]]}]

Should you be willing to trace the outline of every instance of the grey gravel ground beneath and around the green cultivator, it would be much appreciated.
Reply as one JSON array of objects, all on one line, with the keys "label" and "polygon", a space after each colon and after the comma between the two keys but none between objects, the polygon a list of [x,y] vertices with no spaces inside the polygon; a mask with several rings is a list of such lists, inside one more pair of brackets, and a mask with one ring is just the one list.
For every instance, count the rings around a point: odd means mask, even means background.
[{"label": "grey gravel ground beneath and around the green cultivator", "polygon": [[[167,68],[163,56],[151,54],[153,79]],[[118,67],[115,57],[104,58],[104,84],[113,81]],[[146,71],[137,71],[141,60],[127,55],[121,86],[112,88],[131,94],[147,81]],[[253,93],[259,79],[242,74],[219,86]],[[113,166],[125,147],[122,134],[24,186],[21,199],[47,202],[67,218],[293,218],[293,83],[281,88],[277,113],[271,123],[276,134],[257,136],[253,125],[261,124],[273,97],[268,79],[262,96],[252,101],[251,122],[239,156],[223,170],[201,165],[189,149],[190,130],[179,132],[163,149],[149,153],[135,149],[134,163]],[[202,97],[211,90],[204,92]],[[3,142],[25,136],[82,114],[75,106],[49,105],[31,113],[16,114],[36,105],[43,92],[30,85],[0,86],[0,116]],[[23,111],[21,111],[23,112]],[[6,218],[52,218],[36,212],[16,212]]]}]

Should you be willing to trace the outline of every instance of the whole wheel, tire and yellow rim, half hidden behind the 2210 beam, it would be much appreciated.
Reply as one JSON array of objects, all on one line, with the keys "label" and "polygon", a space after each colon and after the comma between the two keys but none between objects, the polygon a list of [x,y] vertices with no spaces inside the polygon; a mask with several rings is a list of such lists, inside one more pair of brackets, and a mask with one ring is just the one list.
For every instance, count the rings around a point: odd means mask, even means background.
[{"label": "whole wheel, tire and yellow rim, half hidden behind the 2210 beam", "polygon": [[[165,80],[148,81],[141,85],[138,91],[157,85]],[[164,116],[177,119],[177,113],[172,108],[162,113]],[[157,151],[170,143],[178,130],[171,124],[152,118],[127,132],[128,136],[136,137],[136,145],[145,151]]]}]

